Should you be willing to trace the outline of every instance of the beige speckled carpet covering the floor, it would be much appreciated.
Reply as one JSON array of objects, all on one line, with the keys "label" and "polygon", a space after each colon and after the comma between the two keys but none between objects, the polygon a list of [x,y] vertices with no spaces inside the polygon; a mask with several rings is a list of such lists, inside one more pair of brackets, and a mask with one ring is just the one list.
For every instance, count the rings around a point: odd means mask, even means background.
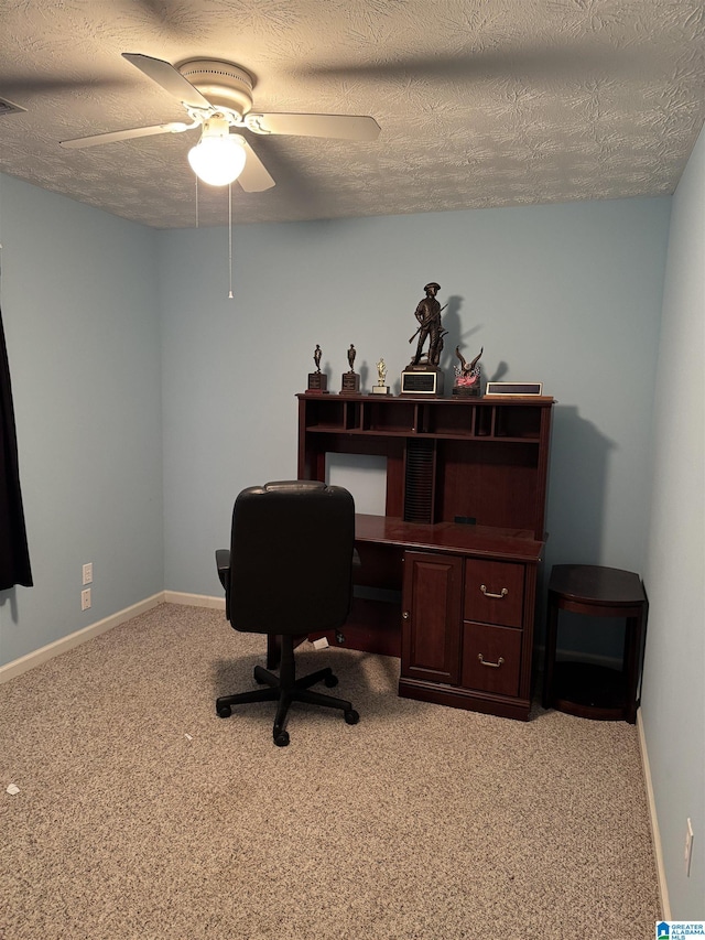
[{"label": "beige speckled carpet covering the floor", "polygon": [[295,705],[278,748],[272,703],[215,714],[263,652],[162,605],[0,687],[3,940],[653,936],[634,726],[412,702],[398,660],[308,647],[360,722]]}]

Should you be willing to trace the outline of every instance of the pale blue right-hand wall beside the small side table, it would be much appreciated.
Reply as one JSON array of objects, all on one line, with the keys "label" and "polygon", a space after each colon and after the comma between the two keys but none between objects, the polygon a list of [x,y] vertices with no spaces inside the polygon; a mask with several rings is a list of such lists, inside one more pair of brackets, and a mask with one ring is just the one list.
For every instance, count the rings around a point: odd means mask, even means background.
[{"label": "pale blue right-hand wall beside the small side table", "polygon": [[[642,715],[674,918],[705,918],[705,131],[673,198],[654,409]],[[695,833],[691,875],[683,849]]]}]

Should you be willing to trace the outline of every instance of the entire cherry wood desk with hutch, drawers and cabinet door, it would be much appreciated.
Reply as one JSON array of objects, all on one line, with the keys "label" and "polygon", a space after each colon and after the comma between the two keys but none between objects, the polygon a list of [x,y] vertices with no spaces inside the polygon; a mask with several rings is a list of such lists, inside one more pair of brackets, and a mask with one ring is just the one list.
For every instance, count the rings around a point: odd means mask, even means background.
[{"label": "entire cherry wood desk with hutch, drawers and cabinet door", "polygon": [[300,479],[326,454],[387,461],[329,640],[400,656],[402,696],[528,721],[553,399],[297,398]]}]

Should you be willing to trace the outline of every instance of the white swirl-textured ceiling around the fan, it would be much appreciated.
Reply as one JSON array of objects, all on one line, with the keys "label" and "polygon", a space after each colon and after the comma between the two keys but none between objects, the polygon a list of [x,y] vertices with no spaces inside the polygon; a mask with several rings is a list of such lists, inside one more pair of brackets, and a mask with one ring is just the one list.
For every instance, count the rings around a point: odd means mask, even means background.
[{"label": "white swirl-textured ceiling around the fan", "polygon": [[[258,111],[371,115],[375,142],[250,136],[276,181],[238,223],[672,193],[704,118],[702,0],[0,0],[0,171],[158,228],[195,224],[198,130],[122,52],[218,57]],[[198,187],[199,225],[228,219]]]}]

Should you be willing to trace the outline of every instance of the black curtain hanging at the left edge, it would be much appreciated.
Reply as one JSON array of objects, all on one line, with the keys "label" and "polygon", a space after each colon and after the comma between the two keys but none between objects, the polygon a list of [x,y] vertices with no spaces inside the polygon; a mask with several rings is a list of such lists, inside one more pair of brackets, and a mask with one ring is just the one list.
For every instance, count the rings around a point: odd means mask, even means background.
[{"label": "black curtain hanging at the left edge", "polygon": [[32,569],[20,491],[10,365],[0,312],[0,591],[15,584],[31,587]]}]

